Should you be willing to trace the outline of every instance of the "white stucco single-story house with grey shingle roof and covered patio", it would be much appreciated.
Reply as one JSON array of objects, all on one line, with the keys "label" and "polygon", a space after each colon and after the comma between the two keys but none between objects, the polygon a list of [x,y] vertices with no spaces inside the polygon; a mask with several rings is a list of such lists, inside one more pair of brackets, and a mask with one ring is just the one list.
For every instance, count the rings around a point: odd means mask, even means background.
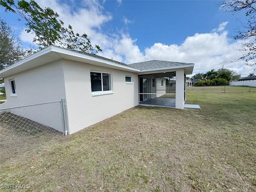
[{"label": "white stucco single-story house with grey shingle roof and covered patio", "polygon": [[[7,97],[0,108],[64,98],[68,134],[72,134],[149,100],[151,94],[157,93],[159,82],[159,88],[165,88],[165,77],[176,77],[174,107],[183,109],[186,74],[192,74],[193,68],[192,63],[158,60],[127,65],[95,54],[48,46],[0,71]],[[29,115],[26,118],[47,125],[45,116],[41,115],[40,120]]]}]

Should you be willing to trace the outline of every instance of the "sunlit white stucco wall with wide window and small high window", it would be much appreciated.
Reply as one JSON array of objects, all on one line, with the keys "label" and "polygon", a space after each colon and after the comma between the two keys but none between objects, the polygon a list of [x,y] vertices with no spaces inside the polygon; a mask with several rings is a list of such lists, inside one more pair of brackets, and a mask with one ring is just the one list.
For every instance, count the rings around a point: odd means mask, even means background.
[{"label": "sunlit white stucco wall with wide window and small high window", "polygon": [[[80,62],[64,60],[69,134],[138,105],[138,75]],[[90,70],[109,72],[113,94],[92,96]],[[125,76],[133,84],[126,84]]]}]

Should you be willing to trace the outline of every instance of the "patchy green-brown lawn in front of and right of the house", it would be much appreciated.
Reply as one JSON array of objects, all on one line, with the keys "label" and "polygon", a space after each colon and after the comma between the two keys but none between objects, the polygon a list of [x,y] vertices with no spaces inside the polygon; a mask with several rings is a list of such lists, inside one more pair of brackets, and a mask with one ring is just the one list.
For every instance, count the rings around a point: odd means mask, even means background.
[{"label": "patchy green-brown lawn in front of and right of the house", "polygon": [[256,93],[228,88],[188,88],[186,102],[201,110],[137,106],[46,142],[1,163],[0,184],[30,184],[27,191],[256,192]]}]

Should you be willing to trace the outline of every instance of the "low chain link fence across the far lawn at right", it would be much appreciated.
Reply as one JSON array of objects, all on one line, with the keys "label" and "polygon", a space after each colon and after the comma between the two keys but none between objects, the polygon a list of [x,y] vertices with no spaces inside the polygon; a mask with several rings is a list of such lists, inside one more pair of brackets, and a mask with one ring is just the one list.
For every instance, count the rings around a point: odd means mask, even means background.
[{"label": "low chain link fence across the far lawn at right", "polygon": [[242,93],[252,92],[256,93],[256,85],[249,86],[192,86],[187,87],[187,90],[196,91],[198,93]]}]

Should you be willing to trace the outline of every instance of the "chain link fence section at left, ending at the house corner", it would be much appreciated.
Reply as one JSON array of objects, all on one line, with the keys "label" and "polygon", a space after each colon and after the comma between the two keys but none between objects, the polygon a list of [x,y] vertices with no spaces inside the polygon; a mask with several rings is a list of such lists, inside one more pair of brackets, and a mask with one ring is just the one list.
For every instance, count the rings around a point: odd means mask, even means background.
[{"label": "chain link fence section at left, ending at the house corner", "polygon": [[0,164],[66,134],[64,100],[0,109]]}]

